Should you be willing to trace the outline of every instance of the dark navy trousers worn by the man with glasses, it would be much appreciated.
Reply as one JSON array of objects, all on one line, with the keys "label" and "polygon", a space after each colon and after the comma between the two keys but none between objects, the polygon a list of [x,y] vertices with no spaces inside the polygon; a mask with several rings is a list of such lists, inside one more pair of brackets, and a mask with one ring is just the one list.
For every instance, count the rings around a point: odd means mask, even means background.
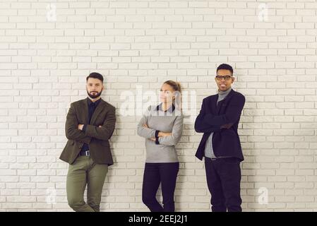
[{"label": "dark navy trousers worn by the man with glasses", "polygon": [[213,212],[241,212],[239,159],[205,157],[205,170]]}]

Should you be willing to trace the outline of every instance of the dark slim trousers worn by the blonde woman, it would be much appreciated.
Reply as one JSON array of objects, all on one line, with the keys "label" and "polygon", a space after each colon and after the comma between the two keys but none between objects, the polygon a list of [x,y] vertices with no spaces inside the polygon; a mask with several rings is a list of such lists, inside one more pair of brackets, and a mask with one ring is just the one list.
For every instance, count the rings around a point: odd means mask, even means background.
[{"label": "dark slim trousers worn by the blonde woman", "polygon": [[[174,191],[179,162],[145,163],[142,201],[151,212],[174,212]],[[157,202],[157,189],[162,184],[163,207]]]}]

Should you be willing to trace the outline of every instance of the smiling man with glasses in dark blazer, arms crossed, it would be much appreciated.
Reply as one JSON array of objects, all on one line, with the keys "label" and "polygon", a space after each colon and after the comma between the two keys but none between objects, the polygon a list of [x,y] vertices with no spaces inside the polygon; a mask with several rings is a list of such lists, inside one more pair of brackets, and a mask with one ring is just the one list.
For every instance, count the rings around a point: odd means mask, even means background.
[{"label": "smiling man with glasses in dark blazer, arms crossed", "polygon": [[203,133],[196,157],[205,157],[213,212],[240,212],[240,162],[244,156],[237,130],[245,98],[231,88],[232,66],[218,66],[215,81],[218,93],[203,99],[195,121],[196,132]]}]

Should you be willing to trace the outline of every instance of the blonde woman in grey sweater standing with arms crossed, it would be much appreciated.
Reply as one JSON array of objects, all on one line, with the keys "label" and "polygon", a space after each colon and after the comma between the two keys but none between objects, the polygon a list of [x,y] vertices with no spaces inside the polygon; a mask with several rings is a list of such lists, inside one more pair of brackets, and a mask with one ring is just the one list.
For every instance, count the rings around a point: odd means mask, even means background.
[{"label": "blonde woman in grey sweater standing with arms crossed", "polygon": [[[174,212],[174,191],[179,171],[175,145],[183,131],[181,85],[166,81],[160,90],[160,105],[150,106],[138,123],[138,135],[145,138],[146,160],[142,201],[151,212]],[[163,207],[156,193],[162,186]]]}]

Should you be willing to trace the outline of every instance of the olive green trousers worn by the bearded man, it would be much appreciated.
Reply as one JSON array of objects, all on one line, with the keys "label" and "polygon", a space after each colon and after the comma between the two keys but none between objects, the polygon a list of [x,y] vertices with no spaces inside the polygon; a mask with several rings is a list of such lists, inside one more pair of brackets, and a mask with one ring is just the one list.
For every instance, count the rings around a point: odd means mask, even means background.
[{"label": "olive green trousers worn by the bearded man", "polygon": [[[99,212],[102,186],[108,165],[96,164],[90,156],[78,156],[68,167],[66,192],[68,205],[76,212]],[[87,203],[84,192],[87,185]]]}]

